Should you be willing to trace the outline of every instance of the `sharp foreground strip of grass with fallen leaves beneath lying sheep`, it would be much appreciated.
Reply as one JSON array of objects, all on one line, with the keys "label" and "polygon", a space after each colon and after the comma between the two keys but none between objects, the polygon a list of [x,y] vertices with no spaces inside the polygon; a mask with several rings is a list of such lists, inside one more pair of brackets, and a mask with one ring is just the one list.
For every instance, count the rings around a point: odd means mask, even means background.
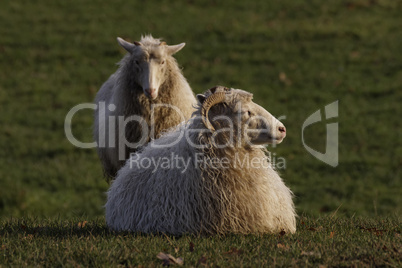
[{"label": "sharp foreground strip of grass with fallen leaves beneath lying sheep", "polygon": [[401,221],[298,219],[295,235],[182,237],[110,232],[103,220],[9,219],[1,223],[0,265],[162,266],[158,253],[186,267],[400,267]]}]

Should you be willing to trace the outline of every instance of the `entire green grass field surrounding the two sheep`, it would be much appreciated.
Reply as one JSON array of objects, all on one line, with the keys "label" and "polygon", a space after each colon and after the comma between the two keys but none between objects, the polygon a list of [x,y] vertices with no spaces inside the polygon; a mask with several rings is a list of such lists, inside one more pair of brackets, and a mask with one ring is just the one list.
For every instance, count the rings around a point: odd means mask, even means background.
[{"label": "entire green grass field surrounding the two sheep", "polygon": [[[354,253],[363,256],[362,265],[400,265],[392,243],[400,252],[401,12],[402,2],[392,0],[2,1],[0,264],[43,264],[45,249],[56,263],[71,266],[158,264],[156,254],[167,248],[190,265],[206,255],[219,266],[349,266]],[[124,55],[116,37],[138,40],[147,33],[168,44],[186,42],[176,58],[194,92],[217,84],[242,88],[276,117],[286,116],[287,137],[271,149],[286,161],[280,173],[295,193],[298,214],[322,231],[310,232],[300,219],[295,236],[197,238],[197,254],[185,250],[191,237],[173,240],[176,254],[164,237],[106,231],[108,184],[95,150],[68,142],[64,119],[75,105],[93,102],[116,70]],[[328,121],[339,122],[334,168],[307,152],[301,133],[312,113],[337,100],[339,117]],[[92,141],[92,114],[83,110],[73,118],[73,133],[85,142]],[[325,151],[328,122],[306,129],[310,147]],[[77,230],[84,220],[88,226]],[[35,232],[39,225],[47,227]],[[329,239],[329,226],[342,235]],[[387,231],[379,236],[359,226]],[[289,249],[277,247],[278,239]],[[144,241],[149,252],[133,257]],[[320,245],[320,258],[301,255]],[[65,255],[57,247],[67,248]],[[231,247],[249,253],[223,254]]]}]

